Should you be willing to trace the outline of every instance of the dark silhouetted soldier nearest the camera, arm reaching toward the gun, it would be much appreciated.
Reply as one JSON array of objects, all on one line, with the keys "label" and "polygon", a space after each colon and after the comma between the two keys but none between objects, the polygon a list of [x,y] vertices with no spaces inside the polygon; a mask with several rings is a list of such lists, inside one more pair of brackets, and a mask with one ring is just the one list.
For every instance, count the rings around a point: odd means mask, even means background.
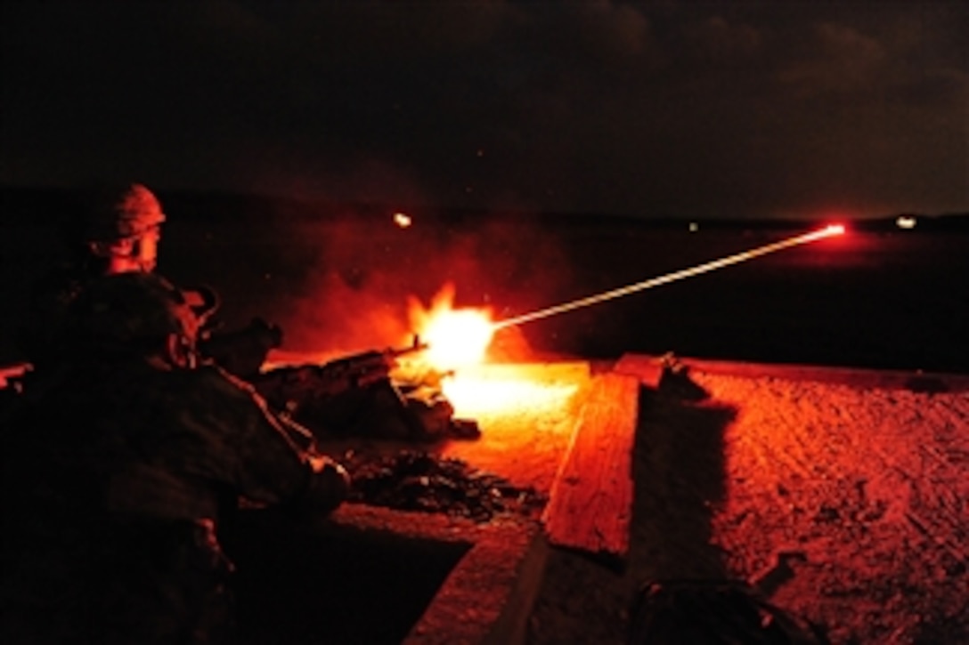
[{"label": "dark silhouetted soldier nearest the camera, arm reaching toward the gun", "polygon": [[5,643],[206,643],[229,620],[239,500],[325,514],[346,472],[253,389],[195,364],[198,322],[150,273],[92,281],[68,367],[3,451]]}]

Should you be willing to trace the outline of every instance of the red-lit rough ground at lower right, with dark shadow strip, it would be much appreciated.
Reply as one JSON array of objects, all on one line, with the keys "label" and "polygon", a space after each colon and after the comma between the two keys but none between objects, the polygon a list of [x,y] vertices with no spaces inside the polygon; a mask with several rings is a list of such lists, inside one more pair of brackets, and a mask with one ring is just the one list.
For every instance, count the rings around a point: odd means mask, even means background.
[{"label": "red-lit rough ground at lower right, with dark shadow strip", "polygon": [[641,584],[680,578],[832,643],[969,642],[969,391],[690,378],[641,398],[626,567],[553,552],[529,642],[628,642]]}]

